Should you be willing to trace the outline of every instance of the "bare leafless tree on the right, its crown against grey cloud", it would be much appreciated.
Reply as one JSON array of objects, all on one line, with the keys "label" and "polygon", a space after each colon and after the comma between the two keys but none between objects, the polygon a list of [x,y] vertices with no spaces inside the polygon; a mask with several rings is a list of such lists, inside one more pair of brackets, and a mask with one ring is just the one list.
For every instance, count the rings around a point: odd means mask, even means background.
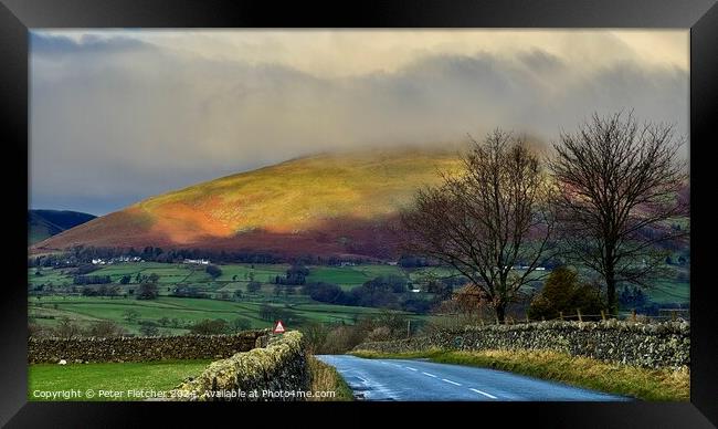
[{"label": "bare leafless tree on the right, its crown against grey cloud", "polygon": [[672,224],[688,213],[682,144],[669,125],[638,125],[631,113],[617,113],[594,114],[553,145],[561,242],[603,278],[613,313],[616,283],[645,285],[665,261],[656,245],[687,233]]}]

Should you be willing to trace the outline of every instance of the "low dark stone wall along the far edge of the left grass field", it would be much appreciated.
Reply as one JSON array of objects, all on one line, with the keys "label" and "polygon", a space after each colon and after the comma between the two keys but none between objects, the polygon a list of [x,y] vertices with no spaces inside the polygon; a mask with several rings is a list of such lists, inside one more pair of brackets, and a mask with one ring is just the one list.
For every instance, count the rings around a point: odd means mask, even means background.
[{"label": "low dark stone wall along the far edge of the left grass field", "polygon": [[221,359],[261,346],[268,329],[232,335],[177,335],[108,338],[33,338],[28,341],[30,364]]}]

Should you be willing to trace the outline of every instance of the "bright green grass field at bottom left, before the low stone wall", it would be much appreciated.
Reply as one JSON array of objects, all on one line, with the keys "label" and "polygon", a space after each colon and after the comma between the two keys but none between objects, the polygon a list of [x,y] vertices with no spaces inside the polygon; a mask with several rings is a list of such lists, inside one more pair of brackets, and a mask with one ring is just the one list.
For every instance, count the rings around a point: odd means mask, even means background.
[{"label": "bright green grass field at bottom left, before the low stone wall", "polygon": [[[167,391],[187,377],[202,373],[210,359],[162,360],[147,363],[102,364],[35,364],[28,370],[28,400],[144,400],[130,397],[129,390]],[[39,393],[78,390],[80,397],[42,398]],[[92,389],[94,397],[86,391]],[[101,396],[101,390],[122,394],[122,397]]]}]

